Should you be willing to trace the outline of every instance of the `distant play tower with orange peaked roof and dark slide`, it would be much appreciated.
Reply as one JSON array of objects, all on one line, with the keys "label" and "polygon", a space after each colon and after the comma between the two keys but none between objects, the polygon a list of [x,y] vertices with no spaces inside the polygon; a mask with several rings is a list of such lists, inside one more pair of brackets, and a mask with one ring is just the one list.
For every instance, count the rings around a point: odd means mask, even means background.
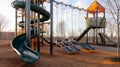
[{"label": "distant play tower with orange peaked roof and dark slide", "polygon": [[[103,28],[105,32],[105,8],[96,0],[87,8],[87,15],[85,17],[87,29],[77,38],[77,41],[81,40],[85,34],[87,34],[86,42],[88,43],[88,31],[93,29],[93,43],[98,43],[98,29]],[[101,16],[101,17],[100,17]]]}]

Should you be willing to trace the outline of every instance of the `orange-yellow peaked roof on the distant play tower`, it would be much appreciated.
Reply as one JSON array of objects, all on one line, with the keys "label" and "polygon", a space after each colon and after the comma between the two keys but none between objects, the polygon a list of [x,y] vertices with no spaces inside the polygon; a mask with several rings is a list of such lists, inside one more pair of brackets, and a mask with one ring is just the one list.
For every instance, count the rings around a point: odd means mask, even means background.
[{"label": "orange-yellow peaked roof on the distant play tower", "polygon": [[96,0],[88,7],[87,12],[88,13],[95,13],[96,9],[98,8],[98,12],[105,12],[105,8],[98,3]]}]

